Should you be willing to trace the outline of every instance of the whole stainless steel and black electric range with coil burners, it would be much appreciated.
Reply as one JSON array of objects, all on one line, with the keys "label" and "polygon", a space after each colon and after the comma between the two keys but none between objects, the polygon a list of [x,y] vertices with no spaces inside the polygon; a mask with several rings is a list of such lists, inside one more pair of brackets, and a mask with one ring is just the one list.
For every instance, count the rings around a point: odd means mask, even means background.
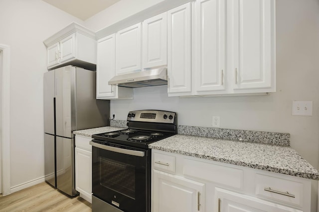
[{"label": "whole stainless steel and black electric range with coil burners", "polygon": [[177,133],[176,113],[131,111],[128,129],[93,135],[92,212],[151,212],[149,144]]}]

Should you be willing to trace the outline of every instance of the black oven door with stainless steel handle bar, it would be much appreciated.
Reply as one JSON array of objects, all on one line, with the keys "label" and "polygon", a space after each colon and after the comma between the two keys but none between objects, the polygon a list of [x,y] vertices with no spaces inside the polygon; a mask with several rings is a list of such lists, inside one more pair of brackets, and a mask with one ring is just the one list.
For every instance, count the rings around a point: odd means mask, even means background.
[{"label": "black oven door with stainless steel handle bar", "polygon": [[149,212],[151,150],[95,141],[93,195],[125,212]]}]

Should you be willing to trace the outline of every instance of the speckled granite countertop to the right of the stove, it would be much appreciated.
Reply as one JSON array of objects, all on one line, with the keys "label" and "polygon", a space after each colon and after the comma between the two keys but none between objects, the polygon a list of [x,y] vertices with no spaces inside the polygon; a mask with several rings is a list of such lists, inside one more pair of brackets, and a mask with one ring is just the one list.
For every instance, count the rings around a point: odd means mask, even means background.
[{"label": "speckled granite countertop to the right of the stove", "polygon": [[319,180],[319,172],[296,150],[288,146],[175,135],[151,143],[149,147],[166,152]]}]

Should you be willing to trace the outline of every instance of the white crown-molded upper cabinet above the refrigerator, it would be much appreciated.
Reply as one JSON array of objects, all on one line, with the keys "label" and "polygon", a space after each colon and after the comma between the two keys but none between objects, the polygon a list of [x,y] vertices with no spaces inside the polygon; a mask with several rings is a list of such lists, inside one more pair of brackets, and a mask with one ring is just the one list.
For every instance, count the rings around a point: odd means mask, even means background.
[{"label": "white crown-molded upper cabinet above the refrigerator", "polygon": [[88,70],[96,69],[95,33],[71,23],[43,42],[47,47],[47,68],[74,65]]}]

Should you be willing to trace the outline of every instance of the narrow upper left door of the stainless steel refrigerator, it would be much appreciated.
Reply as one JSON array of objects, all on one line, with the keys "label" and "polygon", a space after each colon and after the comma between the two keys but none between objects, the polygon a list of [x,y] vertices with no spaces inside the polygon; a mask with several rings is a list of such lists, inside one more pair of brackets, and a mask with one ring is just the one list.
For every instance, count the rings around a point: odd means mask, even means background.
[{"label": "narrow upper left door of the stainless steel refrigerator", "polygon": [[43,88],[44,133],[54,135],[54,71],[44,73]]}]

